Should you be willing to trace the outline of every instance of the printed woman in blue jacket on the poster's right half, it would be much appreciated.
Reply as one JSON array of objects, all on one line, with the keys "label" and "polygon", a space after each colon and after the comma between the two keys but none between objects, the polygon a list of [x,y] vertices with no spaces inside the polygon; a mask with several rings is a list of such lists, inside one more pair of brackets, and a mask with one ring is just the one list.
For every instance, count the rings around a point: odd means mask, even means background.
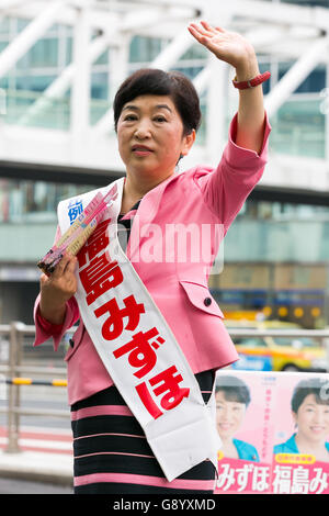
[{"label": "printed woman in blue jacket on the poster's right half", "polygon": [[311,455],[320,462],[329,462],[329,401],[328,380],[302,380],[292,397],[292,414],[296,433],[285,442],[274,446],[276,453]]}]

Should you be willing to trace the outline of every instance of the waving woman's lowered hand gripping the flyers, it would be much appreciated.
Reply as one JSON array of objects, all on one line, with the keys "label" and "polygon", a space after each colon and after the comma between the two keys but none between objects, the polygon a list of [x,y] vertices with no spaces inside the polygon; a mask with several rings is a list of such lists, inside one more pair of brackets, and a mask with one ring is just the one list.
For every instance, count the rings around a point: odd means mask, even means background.
[{"label": "waving woman's lowered hand gripping the flyers", "polygon": [[77,292],[77,257],[65,254],[54,272],[41,277],[41,315],[52,324],[64,323],[66,302]]}]

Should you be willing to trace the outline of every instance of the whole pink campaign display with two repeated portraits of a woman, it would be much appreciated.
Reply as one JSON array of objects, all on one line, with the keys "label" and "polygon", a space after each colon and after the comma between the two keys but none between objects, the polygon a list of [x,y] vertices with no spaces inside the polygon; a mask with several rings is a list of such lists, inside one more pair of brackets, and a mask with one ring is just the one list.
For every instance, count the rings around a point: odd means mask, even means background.
[{"label": "whole pink campaign display with two repeated portraits of a woman", "polygon": [[329,374],[220,370],[215,494],[329,494]]}]

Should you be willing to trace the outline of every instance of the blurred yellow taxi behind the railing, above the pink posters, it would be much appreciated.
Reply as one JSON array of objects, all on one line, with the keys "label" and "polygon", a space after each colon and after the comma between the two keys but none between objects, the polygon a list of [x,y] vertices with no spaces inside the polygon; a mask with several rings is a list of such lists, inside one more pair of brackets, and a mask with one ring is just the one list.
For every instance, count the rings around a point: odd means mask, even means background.
[{"label": "blurred yellow taxi behind the railing, above the pink posters", "polygon": [[225,321],[231,333],[239,360],[232,369],[258,371],[328,372],[326,347],[308,337],[237,336],[235,329],[302,329],[293,323],[266,321]]}]

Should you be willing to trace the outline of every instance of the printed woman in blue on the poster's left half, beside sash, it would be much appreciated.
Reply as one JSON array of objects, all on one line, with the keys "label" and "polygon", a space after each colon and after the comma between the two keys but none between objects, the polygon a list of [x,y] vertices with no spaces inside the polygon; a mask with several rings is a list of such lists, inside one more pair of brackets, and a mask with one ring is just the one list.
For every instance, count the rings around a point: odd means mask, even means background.
[{"label": "printed woman in blue on the poster's left half, beside sash", "polygon": [[216,418],[217,431],[223,441],[220,451],[226,458],[259,462],[257,449],[249,442],[234,437],[242,426],[249,403],[249,389],[242,380],[236,377],[218,375],[216,381]]}]

